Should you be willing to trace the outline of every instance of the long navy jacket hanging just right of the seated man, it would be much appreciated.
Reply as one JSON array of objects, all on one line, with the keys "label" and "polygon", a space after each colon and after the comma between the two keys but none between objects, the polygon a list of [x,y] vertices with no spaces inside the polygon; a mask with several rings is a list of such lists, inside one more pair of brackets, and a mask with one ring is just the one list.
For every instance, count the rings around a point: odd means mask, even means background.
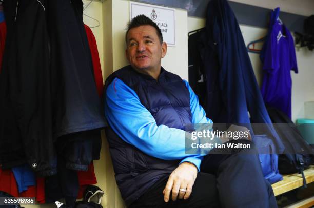
[{"label": "long navy jacket hanging just right of the seated man", "polygon": [[243,123],[251,130],[251,122],[268,123],[254,133],[272,135],[282,152],[283,144],[266,111],[238,21],[226,0],[209,2],[206,28],[200,33],[195,44],[204,65],[207,117],[214,123]]}]

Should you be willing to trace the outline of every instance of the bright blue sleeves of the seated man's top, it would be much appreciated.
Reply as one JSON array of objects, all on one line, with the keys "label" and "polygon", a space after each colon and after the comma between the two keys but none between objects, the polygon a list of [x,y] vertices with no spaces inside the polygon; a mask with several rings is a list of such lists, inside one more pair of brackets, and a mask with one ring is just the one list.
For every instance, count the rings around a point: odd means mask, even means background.
[{"label": "bright blue sleeves of the seated man's top", "polygon": [[[206,118],[205,111],[188,82],[184,82],[190,93],[192,123],[212,123]],[[192,162],[200,171],[205,154],[186,154],[186,132],[166,125],[157,126],[138,95],[119,78],[115,78],[107,88],[105,116],[114,132],[125,142],[156,158]]]}]

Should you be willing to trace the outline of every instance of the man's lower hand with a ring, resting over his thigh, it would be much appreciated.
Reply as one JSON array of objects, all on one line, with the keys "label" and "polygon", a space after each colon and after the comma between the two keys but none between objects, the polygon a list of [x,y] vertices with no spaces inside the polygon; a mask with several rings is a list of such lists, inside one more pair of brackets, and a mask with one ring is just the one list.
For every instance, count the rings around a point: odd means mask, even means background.
[{"label": "man's lower hand with a ring, resting over his thigh", "polygon": [[[179,199],[188,199],[192,193],[192,186],[197,178],[198,169],[195,165],[183,162],[169,176],[166,187],[163,191],[165,202],[169,201],[170,192],[173,201]],[[180,191],[180,189],[186,190]]]}]

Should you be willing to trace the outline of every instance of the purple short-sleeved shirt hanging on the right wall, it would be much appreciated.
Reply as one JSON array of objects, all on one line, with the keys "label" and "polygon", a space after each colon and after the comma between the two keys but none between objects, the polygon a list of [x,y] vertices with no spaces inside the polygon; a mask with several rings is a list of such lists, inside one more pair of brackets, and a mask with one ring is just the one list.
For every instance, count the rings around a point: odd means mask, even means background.
[{"label": "purple short-sleeved shirt hanging on the right wall", "polygon": [[295,44],[285,25],[276,21],[265,46],[262,95],[266,105],[276,107],[291,118],[291,75],[298,73]]}]

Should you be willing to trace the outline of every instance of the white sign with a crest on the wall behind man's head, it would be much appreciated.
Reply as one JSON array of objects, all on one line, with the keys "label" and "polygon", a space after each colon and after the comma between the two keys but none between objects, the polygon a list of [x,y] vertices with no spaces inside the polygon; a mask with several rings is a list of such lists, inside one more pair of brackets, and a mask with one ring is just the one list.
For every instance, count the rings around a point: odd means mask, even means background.
[{"label": "white sign with a crest on the wall behind man's head", "polygon": [[175,9],[130,1],[130,19],[140,14],[149,17],[158,25],[168,46],[175,46]]}]

